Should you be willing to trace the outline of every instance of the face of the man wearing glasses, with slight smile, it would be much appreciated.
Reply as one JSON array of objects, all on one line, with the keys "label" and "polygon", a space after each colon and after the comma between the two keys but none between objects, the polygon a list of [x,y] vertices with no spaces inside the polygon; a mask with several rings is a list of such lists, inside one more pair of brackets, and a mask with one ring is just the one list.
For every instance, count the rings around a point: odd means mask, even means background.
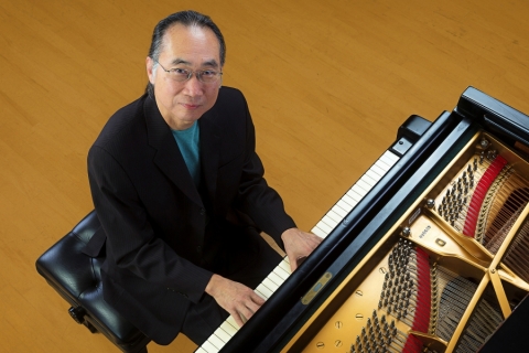
[{"label": "face of the man wearing glasses, with slight smile", "polygon": [[[219,43],[208,28],[175,24],[163,38],[159,63],[165,69],[214,69],[222,72]],[[149,81],[154,85],[158,108],[168,125],[174,130],[190,128],[209,110],[217,100],[222,79],[202,83],[196,75],[186,82],[176,82],[160,65],[147,58]]]}]

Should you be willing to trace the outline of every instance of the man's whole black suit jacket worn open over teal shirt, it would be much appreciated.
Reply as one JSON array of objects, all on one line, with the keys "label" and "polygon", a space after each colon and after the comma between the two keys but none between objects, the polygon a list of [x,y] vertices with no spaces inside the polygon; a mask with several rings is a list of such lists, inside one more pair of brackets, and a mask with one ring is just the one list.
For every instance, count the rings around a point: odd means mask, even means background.
[{"label": "man's whole black suit jacket worn open over teal shirt", "polygon": [[207,257],[241,220],[238,212],[280,245],[281,233],[295,226],[262,178],[242,94],[223,87],[198,124],[202,192],[147,95],[118,110],[88,153],[107,238],[104,298],[160,344],[174,340],[188,304],[205,295],[215,271]]}]

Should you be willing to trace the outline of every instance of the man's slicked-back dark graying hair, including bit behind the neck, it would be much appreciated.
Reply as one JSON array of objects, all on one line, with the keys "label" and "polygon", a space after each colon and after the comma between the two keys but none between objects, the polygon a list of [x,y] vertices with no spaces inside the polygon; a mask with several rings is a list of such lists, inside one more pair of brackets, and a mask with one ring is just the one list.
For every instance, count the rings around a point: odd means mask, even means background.
[{"label": "man's slicked-back dark graying hair, including bit behind the neck", "polygon": [[[198,13],[196,11],[187,10],[187,11],[180,11],[173,14],[168,15],[165,19],[158,22],[154,31],[152,33],[152,41],[151,47],[149,49],[149,57],[152,58],[154,62],[158,63],[158,58],[160,57],[160,53],[162,52],[163,46],[163,36],[165,32],[175,24],[183,24],[185,26],[199,26],[199,28],[208,28],[215,33],[218,40],[218,44],[220,46],[220,66],[224,66],[226,61],[226,43],[224,42],[223,33],[218,26],[212,21],[208,15]],[[154,66],[154,72],[156,68],[156,64]],[[145,92],[149,94],[151,98],[154,98],[154,86],[149,82],[147,84]]]}]

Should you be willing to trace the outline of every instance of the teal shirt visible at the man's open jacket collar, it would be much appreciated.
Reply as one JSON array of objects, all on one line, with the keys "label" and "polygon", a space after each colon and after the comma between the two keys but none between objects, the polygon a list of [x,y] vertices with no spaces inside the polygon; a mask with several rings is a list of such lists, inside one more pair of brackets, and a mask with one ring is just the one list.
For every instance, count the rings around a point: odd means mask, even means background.
[{"label": "teal shirt visible at the man's open jacket collar", "polygon": [[171,130],[196,188],[201,184],[201,131],[198,122],[185,130]]}]

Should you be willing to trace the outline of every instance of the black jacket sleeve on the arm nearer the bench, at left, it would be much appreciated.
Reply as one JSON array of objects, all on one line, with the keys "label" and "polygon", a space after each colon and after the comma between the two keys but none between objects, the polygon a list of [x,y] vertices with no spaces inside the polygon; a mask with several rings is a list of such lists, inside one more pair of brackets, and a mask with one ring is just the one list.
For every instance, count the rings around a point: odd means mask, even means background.
[{"label": "black jacket sleeve on the arm nearer the bench, at left", "polygon": [[105,149],[88,153],[88,178],[98,218],[107,235],[107,266],[111,276],[130,271],[160,290],[180,292],[198,302],[212,272],[179,256],[149,223],[134,185],[120,163]]}]

